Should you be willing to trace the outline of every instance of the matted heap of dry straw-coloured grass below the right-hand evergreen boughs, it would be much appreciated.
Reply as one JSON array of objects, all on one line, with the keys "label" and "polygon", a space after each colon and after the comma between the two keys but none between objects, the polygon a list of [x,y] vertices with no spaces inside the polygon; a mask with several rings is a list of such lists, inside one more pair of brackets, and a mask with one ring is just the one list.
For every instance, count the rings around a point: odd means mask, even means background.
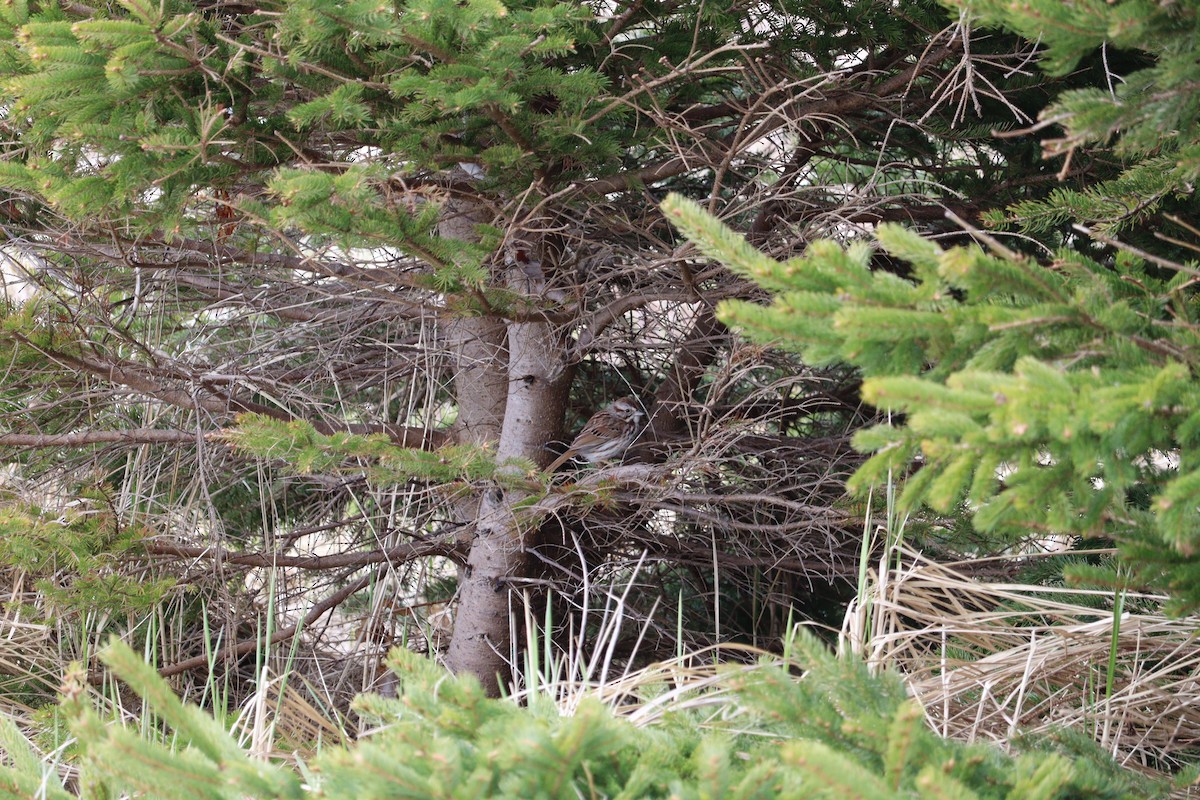
[{"label": "matted heap of dry straw-coloured grass below the right-hand evergreen boughs", "polygon": [[942,735],[1007,745],[1069,727],[1134,770],[1195,760],[1200,620],[1145,610],[1164,597],[1128,595],[1138,610],[1115,626],[1112,593],[974,581],[912,552],[872,578],[842,642],[901,670]]}]

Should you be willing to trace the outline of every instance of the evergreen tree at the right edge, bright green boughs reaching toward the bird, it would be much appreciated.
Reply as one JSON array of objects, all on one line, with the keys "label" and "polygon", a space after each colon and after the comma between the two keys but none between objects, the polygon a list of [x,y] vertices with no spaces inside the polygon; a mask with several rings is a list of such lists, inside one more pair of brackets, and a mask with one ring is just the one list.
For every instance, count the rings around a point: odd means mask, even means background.
[{"label": "evergreen tree at the right edge, bright green boughs reaching toward the bird", "polygon": [[[895,477],[905,507],[966,503],[977,527],[1020,539],[1114,539],[1140,579],[1193,609],[1200,272],[1194,258],[1175,259],[1200,252],[1177,216],[1195,211],[1195,4],[970,8],[1037,31],[1056,72],[1097,48],[1136,52],[1124,61],[1138,68],[1066,92],[1043,114],[1043,128],[1062,126],[1050,155],[1091,150],[1082,157],[1120,160],[1118,174],[989,217],[1057,240],[1051,255],[978,230],[982,245],[943,247],[883,224],[872,243],[815,242],[779,263],[685,199],[666,207],[706,253],[779,293],[770,307],[730,303],[725,319],[812,363],[853,363],[863,397],[900,413],[857,435],[874,456],[852,487]],[[1182,236],[1162,233],[1170,222]],[[1157,252],[1130,243],[1156,239]],[[878,269],[875,245],[899,266]],[[1075,573],[1121,585],[1109,571]]]}]

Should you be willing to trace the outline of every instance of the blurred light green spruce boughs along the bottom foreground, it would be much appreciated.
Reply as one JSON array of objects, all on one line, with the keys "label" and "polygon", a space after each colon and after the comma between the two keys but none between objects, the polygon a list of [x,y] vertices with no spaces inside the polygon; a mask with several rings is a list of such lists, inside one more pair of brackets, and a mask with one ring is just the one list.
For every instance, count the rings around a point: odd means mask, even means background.
[{"label": "blurred light green spruce boughs along the bottom foreground", "polygon": [[[925,724],[895,675],[872,676],[810,633],[792,643],[806,674],[779,666],[730,675],[721,699],[736,724],[678,710],[638,728],[596,702],[564,715],[548,700],[522,708],[485,696],[472,678],[449,678],[397,650],[398,698],[365,696],[377,732],[329,747],[300,776],[251,758],[211,717],[182,704],[152,668],[114,640],[103,661],[137,690],[174,735],[140,736],[104,724],[82,675],[68,675],[64,710],[80,742],[89,796],[214,799],[326,798],[1094,798],[1165,796],[1165,787],[1121,771],[1081,739],[1031,744],[1010,757],[989,745],[946,741]],[[707,720],[707,722],[704,721]],[[725,728],[725,729],[722,729]],[[19,732],[0,727],[7,762],[0,796],[73,796],[44,775]],[[4,794],[7,792],[7,794]],[[26,794],[20,794],[26,792]],[[38,795],[41,796],[41,795]]]}]

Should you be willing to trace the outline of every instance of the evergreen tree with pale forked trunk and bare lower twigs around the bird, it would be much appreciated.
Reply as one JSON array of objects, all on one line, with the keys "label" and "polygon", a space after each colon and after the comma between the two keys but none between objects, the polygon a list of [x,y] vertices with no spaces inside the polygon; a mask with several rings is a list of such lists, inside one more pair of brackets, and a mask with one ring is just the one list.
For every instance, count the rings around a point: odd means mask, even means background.
[{"label": "evergreen tree with pale forked trunk and bare lower twigs around the bird", "polygon": [[[727,207],[787,257],[1036,200],[1036,143],[991,137],[1069,84],[1014,77],[1027,47],[929,0],[2,2],[0,213],[31,295],[0,327],[17,499],[104,498],[82,513],[144,534],[109,563],[127,576],[220,565],[205,613],[245,607],[228,570],[290,567],[325,577],[262,583],[307,622],[371,585],[416,614],[449,559],[446,660],[492,691],[529,593],[584,604],[642,553],[631,607],[756,636],[854,572],[836,498],[863,419],[726,336],[714,303],[755,287],[656,204]],[[630,392],[641,464],[539,471]],[[222,621],[226,657],[256,649]]]}]

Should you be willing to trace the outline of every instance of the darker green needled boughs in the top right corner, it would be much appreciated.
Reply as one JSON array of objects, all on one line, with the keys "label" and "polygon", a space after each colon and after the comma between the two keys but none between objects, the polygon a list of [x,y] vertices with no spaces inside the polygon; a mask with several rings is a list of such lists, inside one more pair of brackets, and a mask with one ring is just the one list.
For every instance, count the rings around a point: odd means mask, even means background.
[{"label": "darker green needled boughs in the top right corner", "polygon": [[985,24],[1039,42],[1042,65],[1054,74],[1067,74],[1100,48],[1106,59],[1122,50],[1138,56],[1135,67],[1105,74],[1108,85],[1067,91],[1042,113],[1064,128],[1061,138],[1044,143],[1049,155],[1111,144],[1115,155],[1127,160],[1122,172],[1085,188],[1058,190],[1045,200],[1018,203],[1006,215],[992,215],[992,222],[1034,233],[1067,222],[1116,231],[1147,222],[1171,199],[1192,198],[1200,175],[1194,0],[948,2],[968,8]]}]

